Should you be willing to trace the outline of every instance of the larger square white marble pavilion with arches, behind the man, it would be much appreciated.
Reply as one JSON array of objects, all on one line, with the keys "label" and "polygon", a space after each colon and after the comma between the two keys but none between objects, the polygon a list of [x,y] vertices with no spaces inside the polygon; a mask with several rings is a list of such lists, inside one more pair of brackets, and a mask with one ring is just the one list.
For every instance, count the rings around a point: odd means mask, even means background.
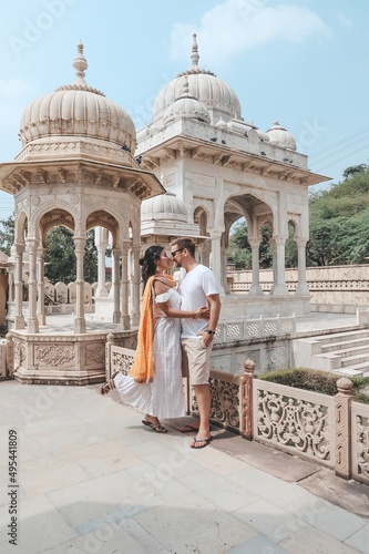
[{"label": "larger square white marble pavilion with arches, behind the man", "polygon": [[[327,177],[308,170],[307,156],[296,151],[294,136],[278,122],[264,132],[244,121],[236,93],[199,65],[195,34],[191,60],[189,69],[156,96],[153,121],[137,132],[136,154],[143,167],[153,171],[165,188],[182,201],[184,209],[178,219],[186,213],[187,222],[197,224],[199,234],[209,237],[199,247],[201,260],[211,263],[225,293],[229,229],[239,217],[246,218],[253,249],[250,296],[247,300],[225,298],[223,316],[307,314],[308,186]],[[143,214],[146,216],[157,202],[145,201]],[[293,297],[285,284],[289,222],[295,228],[299,268]],[[259,245],[265,224],[274,250],[270,295],[263,295],[259,285]],[[147,220],[143,237],[146,228]]]}]

